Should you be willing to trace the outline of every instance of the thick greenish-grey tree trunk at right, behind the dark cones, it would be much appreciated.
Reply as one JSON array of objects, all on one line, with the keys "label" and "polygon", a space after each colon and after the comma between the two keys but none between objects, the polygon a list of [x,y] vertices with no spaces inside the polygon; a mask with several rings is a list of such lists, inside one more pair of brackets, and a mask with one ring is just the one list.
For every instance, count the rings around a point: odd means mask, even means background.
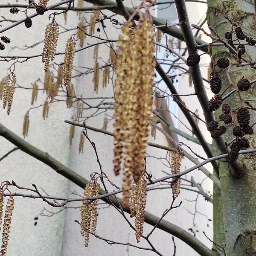
[{"label": "thick greenish-grey tree trunk at right, behind the dark cones", "polygon": [[[256,17],[254,14],[254,6],[252,0],[208,0],[208,23],[218,34],[224,38],[225,32],[230,31],[230,23],[224,18],[224,14],[230,17],[233,21],[238,22],[243,32],[256,38]],[[235,39],[233,35],[233,39]],[[245,41],[242,41],[245,42]],[[246,46],[246,53],[243,55],[246,59],[255,61],[255,47]],[[232,62],[236,62],[236,56],[230,55],[227,48],[213,47],[212,55],[215,63],[220,57],[226,57]],[[218,69],[218,67],[216,67]],[[222,90],[228,85],[226,70],[222,71]],[[242,78],[249,81],[256,78],[255,70],[250,67],[232,67],[231,79],[234,84]],[[255,106],[256,89],[255,85],[252,89],[241,93],[243,100],[247,100]],[[224,103],[228,103],[231,108],[236,108],[240,105],[237,93],[227,98]],[[250,111],[251,122],[255,122],[255,111]],[[220,110],[216,111],[216,119]],[[246,136],[250,141],[250,147],[256,146],[256,136]],[[232,138],[232,128],[228,128],[224,136],[229,142]],[[233,178],[230,175],[229,166],[224,161],[219,163],[219,175],[221,180],[221,208],[224,221],[224,233],[226,242],[227,256],[247,256],[256,255],[256,163],[254,161],[255,154],[247,154],[240,156],[246,166],[246,172],[241,178]],[[216,192],[216,191],[215,191]],[[216,196],[216,193],[215,193]],[[214,208],[219,209],[220,199],[216,196],[214,200]],[[215,225],[221,225],[221,216],[214,210]],[[221,246],[224,244],[223,233],[220,232],[221,227],[214,228],[214,240]]]}]

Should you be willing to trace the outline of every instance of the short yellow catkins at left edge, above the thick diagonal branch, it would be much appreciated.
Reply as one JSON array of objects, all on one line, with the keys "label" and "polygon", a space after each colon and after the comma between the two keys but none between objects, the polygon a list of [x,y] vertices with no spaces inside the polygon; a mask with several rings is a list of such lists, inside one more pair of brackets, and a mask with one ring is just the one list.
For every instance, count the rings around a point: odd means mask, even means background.
[{"label": "short yellow catkins at left edge, above the thick diagonal branch", "polygon": [[7,106],[7,115],[12,108],[13,94],[15,91],[16,76],[15,74],[7,75],[3,81],[3,108]]}]

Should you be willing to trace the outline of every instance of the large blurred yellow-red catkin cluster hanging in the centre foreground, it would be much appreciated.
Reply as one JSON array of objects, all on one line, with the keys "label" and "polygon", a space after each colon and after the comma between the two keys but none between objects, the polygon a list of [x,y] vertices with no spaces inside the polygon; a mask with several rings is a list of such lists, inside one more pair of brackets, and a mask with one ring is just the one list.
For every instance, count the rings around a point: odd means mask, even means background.
[{"label": "large blurred yellow-red catkin cluster hanging in the centre foreground", "polygon": [[154,86],[154,27],[149,18],[122,27],[116,57],[114,172],[123,161],[123,207],[129,207],[131,182],[144,173],[148,120]]}]

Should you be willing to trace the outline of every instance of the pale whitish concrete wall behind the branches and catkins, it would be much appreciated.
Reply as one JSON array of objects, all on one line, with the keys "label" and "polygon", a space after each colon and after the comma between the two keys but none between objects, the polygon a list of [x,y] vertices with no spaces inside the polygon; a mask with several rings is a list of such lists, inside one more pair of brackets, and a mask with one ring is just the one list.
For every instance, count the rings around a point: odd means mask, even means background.
[{"label": "pale whitish concrete wall behind the branches and catkins", "polygon": [[[50,1],[54,3],[55,1]],[[57,1],[56,1],[57,2]],[[128,1],[125,1],[128,4]],[[9,3],[16,3],[15,0],[9,0]],[[125,3],[126,4],[126,3]],[[86,4],[86,6],[89,6]],[[205,7],[205,6],[204,6]],[[206,9],[201,9],[201,5],[193,3],[189,4],[189,9],[198,9],[198,13],[193,12],[192,19],[198,20],[201,14],[203,14]],[[2,10],[1,10],[2,11]],[[2,12],[3,13],[3,12]],[[29,10],[29,13],[33,11]],[[105,12],[107,15],[110,12]],[[5,9],[4,16],[11,17],[9,10]],[[22,13],[15,16],[18,19],[22,16]],[[90,14],[84,16],[89,20]],[[58,23],[63,24],[63,16],[56,17]],[[122,20],[118,17],[118,20]],[[33,55],[38,54],[42,51],[43,44],[27,49],[20,50],[18,48],[11,50],[11,47],[23,47],[25,44],[32,45],[38,41],[44,39],[44,29],[48,20],[46,15],[43,17],[36,17],[33,19],[33,26],[31,29],[26,29],[23,24],[17,26],[15,29],[10,30],[5,35],[9,36],[12,40],[10,46],[6,48],[2,55]],[[78,23],[78,17],[72,12],[68,12],[68,22],[67,28],[76,28]],[[118,38],[118,31],[114,28],[109,20],[104,22],[106,26],[106,31],[108,32],[108,37],[116,39]],[[96,26],[97,27],[97,26]],[[119,26],[117,27],[120,28]],[[100,26],[101,32],[97,32],[97,36],[105,38],[105,33]],[[63,31],[61,29],[60,31]],[[65,41],[72,32],[63,33],[60,35],[57,52],[63,52],[65,47]],[[25,33],[25,34],[24,34]],[[95,43],[97,40],[95,38],[87,37],[85,44]],[[77,47],[79,47],[77,45]],[[10,51],[10,52],[9,52]],[[101,45],[99,47],[99,56],[102,59],[99,60],[100,65],[108,60],[109,48]],[[64,56],[58,56],[55,58],[56,63],[63,61]],[[6,69],[10,66],[10,63],[2,62],[0,66],[0,72],[2,77],[6,75]],[[76,55],[75,64],[76,67],[93,67],[93,48],[81,51]],[[79,69],[79,68],[78,68]],[[23,64],[15,65],[15,74],[17,76],[17,84],[24,87],[31,87],[38,77],[43,81],[44,72],[43,64],[41,63],[41,58],[33,58],[26,61]],[[204,73],[204,76],[206,74]],[[100,96],[113,96],[113,85],[108,84],[107,88],[99,88],[99,93],[96,95],[93,91],[93,75],[89,74],[87,76],[78,76],[73,79],[73,84],[76,89],[76,95],[82,94],[84,97],[100,97]],[[193,89],[188,86],[188,81],[186,78],[181,77],[179,79],[178,90],[180,93],[193,92]],[[42,87],[42,84],[40,84]],[[22,136],[22,124],[23,116],[28,111],[30,106],[31,91],[16,89],[13,108],[10,116],[6,115],[6,110],[0,109],[1,122],[11,129],[18,135]],[[44,103],[46,95],[42,92],[39,93],[38,101],[34,107],[39,106]],[[192,101],[191,99],[186,100],[188,107],[199,108],[197,101]],[[109,101],[113,101],[110,99]],[[90,100],[90,104],[97,104],[98,99]],[[69,166],[78,174],[86,177],[90,177],[92,172],[98,172],[99,166],[96,162],[93,148],[88,142],[85,142],[84,153],[78,154],[78,144],[81,128],[76,128],[75,137],[72,145],[69,145],[69,125],[64,123],[65,119],[71,119],[75,114],[76,109],[67,109],[65,102],[52,103],[50,105],[49,118],[45,121],[41,117],[42,107],[32,109],[30,113],[30,128],[29,135],[26,140],[29,143],[37,146],[41,150],[47,151],[57,160],[60,160],[65,165]],[[90,116],[94,110],[84,111],[84,116]],[[113,112],[108,112],[110,115]],[[177,113],[183,122],[186,122],[180,112]],[[202,113],[199,112],[202,117]],[[104,113],[100,116],[96,116],[87,120],[87,124],[94,126],[96,128],[102,128]],[[201,128],[205,127],[200,124]],[[179,128],[184,129],[184,127],[179,123]],[[111,122],[108,125],[108,131],[112,131]],[[185,129],[187,132],[187,130]],[[96,144],[97,151],[99,154],[100,161],[103,166],[103,171],[117,184],[121,184],[121,177],[114,177],[113,175],[113,138],[104,134],[95,133],[94,131],[88,131],[89,137]],[[154,141],[153,138],[150,140]],[[159,144],[166,144],[166,139],[157,131],[157,139],[154,141]],[[7,142],[5,139],[0,138],[0,155],[5,154],[7,151],[12,149],[14,146]],[[187,142],[189,145],[191,143]],[[198,154],[202,154],[201,149],[192,145]],[[156,148],[148,148],[148,154],[155,157],[165,157],[166,151],[162,151]],[[192,166],[192,163],[183,158],[181,171],[185,170],[187,167]],[[151,172],[154,177],[161,177],[165,175],[162,171],[170,172],[169,168],[160,163],[160,161],[155,161],[152,157],[147,158],[147,169]],[[200,171],[195,171],[192,173],[196,181],[201,181],[204,179],[204,175]],[[186,176],[187,179],[190,175]],[[0,180],[15,180],[17,184],[23,186],[31,186],[32,183],[41,186],[49,195],[54,196],[69,196],[74,197],[74,192],[82,195],[82,190],[78,188],[75,184],[67,181],[65,178],[55,174],[55,172],[45,166],[43,163],[38,162],[32,157],[26,155],[21,151],[15,151],[5,160],[0,162]],[[209,180],[204,181],[204,186],[207,189],[211,189],[211,182]],[[114,188],[108,186],[109,191]],[[195,200],[197,194],[194,192],[188,192],[187,190],[182,190],[177,203],[183,201],[182,206],[178,209],[172,210],[167,216],[166,220],[183,227],[188,230],[193,226],[193,215],[188,211],[195,211],[195,202],[189,202],[188,200]],[[169,207],[172,202],[172,192],[171,189],[166,190],[154,190],[154,192],[148,192],[148,203],[146,210],[161,216],[163,211]],[[100,202],[102,203],[102,202]],[[80,207],[80,204],[70,204],[68,207]],[[195,215],[194,230],[196,236],[204,241],[205,244],[211,246],[209,241],[204,237],[202,230],[204,230],[209,237],[212,236],[212,225],[208,221],[208,218],[212,218],[212,207],[210,203],[206,203],[204,198],[200,195],[196,204],[196,209],[198,212],[202,212],[207,215],[200,215],[197,213]],[[23,199],[15,198],[15,210],[12,221],[12,229],[9,240],[9,248],[7,256],[14,255],[44,255],[44,256],[76,256],[76,255],[98,255],[104,253],[104,255],[117,256],[117,255],[153,255],[154,253],[145,250],[139,250],[137,248],[127,247],[124,245],[110,245],[106,244],[105,241],[100,241],[90,237],[89,246],[85,248],[83,246],[84,240],[80,235],[79,224],[75,223],[75,220],[80,221],[80,209],[70,208],[65,209],[59,213],[54,214],[52,217],[43,217],[40,215],[42,210],[46,208],[51,212],[58,212],[60,209],[52,209],[47,204],[43,203],[41,200]],[[51,215],[46,210],[43,211],[44,214]],[[35,226],[34,218],[38,217],[37,225]],[[131,220],[134,223],[134,219]],[[207,227],[207,224],[209,227]],[[144,225],[144,234],[147,234],[151,230],[151,226]],[[96,233],[106,239],[111,239],[113,241],[119,242],[129,242],[131,244],[137,244],[135,241],[134,231],[128,227],[124,218],[112,207],[108,207],[106,204],[99,205],[99,218],[97,224]],[[151,236],[151,240],[157,250],[163,255],[172,255],[173,244],[172,236],[164,233],[160,230],[155,230]],[[175,239],[177,245],[177,256],[184,255],[185,253],[189,256],[198,255],[189,246],[184,244],[182,241]],[[145,242],[138,244],[142,247],[148,247]]]}]

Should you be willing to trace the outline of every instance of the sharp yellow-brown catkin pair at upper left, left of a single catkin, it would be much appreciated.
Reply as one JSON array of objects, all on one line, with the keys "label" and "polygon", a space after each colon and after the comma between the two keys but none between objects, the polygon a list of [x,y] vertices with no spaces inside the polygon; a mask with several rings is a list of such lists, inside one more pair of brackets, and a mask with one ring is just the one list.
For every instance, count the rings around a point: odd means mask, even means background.
[{"label": "sharp yellow-brown catkin pair at upper left, left of a single catkin", "polygon": [[58,24],[49,23],[45,29],[44,49],[42,54],[42,62],[44,63],[44,71],[49,69],[50,61],[54,60],[57,42],[58,42]]}]

